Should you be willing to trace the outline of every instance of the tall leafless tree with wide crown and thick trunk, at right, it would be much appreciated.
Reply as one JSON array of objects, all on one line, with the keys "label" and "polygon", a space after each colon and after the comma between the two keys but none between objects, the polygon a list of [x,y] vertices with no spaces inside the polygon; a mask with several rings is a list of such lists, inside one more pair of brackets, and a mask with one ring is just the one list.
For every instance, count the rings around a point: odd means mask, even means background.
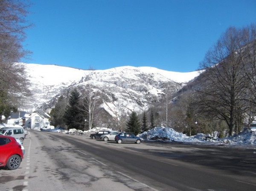
[{"label": "tall leafless tree with wide crown and thick trunk, at right", "polygon": [[242,73],[240,30],[230,27],[207,52],[201,67],[205,69],[195,106],[205,115],[224,120],[233,135],[234,125],[248,107],[247,78]]}]

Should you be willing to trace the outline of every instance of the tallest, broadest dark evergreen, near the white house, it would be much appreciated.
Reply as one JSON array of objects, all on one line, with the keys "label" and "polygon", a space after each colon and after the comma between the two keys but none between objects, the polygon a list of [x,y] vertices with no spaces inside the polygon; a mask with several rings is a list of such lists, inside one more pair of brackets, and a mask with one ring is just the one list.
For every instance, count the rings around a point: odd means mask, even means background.
[{"label": "tallest, broadest dark evergreen, near the white house", "polygon": [[75,89],[70,94],[69,103],[66,106],[64,113],[64,123],[67,125],[68,129],[82,129],[82,119],[79,110],[79,99],[80,94]]}]

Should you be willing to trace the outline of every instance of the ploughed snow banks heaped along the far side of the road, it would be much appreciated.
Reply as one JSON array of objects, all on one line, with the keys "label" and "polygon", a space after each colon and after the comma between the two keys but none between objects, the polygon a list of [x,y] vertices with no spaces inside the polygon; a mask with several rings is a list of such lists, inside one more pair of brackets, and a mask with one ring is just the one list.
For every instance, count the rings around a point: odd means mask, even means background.
[{"label": "ploughed snow banks heaped along the far side of the road", "polygon": [[[42,131],[51,131],[56,133],[65,133],[70,135],[78,135],[78,136],[90,136],[90,134],[97,133],[99,130],[108,130],[113,131],[109,128],[102,127],[94,127],[91,130],[64,130],[64,128],[55,128],[55,129],[47,129]],[[198,133],[195,136],[186,136],[183,133],[178,133],[172,128],[169,127],[155,127],[151,130],[143,132],[139,134],[141,138],[147,141],[164,141],[164,142],[183,142],[190,144],[208,144],[208,145],[240,145],[240,146],[256,146],[256,131],[247,129],[242,131],[241,133],[224,137],[219,139],[217,137],[212,137],[211,139],[207,139],[207,137],[211,137],[209,134],[205,135],[203,133]]]}]

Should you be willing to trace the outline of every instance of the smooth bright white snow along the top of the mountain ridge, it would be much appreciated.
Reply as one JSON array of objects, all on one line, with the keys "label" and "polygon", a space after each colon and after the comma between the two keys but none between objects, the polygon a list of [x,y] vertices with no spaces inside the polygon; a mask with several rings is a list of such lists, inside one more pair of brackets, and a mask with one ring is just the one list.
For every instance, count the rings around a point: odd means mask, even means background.
[{"label": "smooth bright white snow along the top of the mountain ridge", "polygon": [[[26,64],[27,72],[32,81],[42,85],[59,85],[79,81],[82,77],[88,75],[90,70],[62,67],[46,64]],[[195,72],[171,72],[154,67],[116,67],[106,70],[95,70],[102,78],[127,77],[136,80],[137,73],[154,74],[155,80],[171,80],[177,83],[186,83],[199,75]]]}]

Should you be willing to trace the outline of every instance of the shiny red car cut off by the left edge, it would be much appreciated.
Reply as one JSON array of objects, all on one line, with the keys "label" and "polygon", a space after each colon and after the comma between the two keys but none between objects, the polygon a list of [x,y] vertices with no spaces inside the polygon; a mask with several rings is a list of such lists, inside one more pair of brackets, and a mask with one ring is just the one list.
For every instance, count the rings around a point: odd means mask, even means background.
[{"label": "shiny red car cut off by the left edge", "polygon": [[9,170],[19,168],[23,159],[21,145],[12,136],[0,135],[0,167],[6,166]]}]

